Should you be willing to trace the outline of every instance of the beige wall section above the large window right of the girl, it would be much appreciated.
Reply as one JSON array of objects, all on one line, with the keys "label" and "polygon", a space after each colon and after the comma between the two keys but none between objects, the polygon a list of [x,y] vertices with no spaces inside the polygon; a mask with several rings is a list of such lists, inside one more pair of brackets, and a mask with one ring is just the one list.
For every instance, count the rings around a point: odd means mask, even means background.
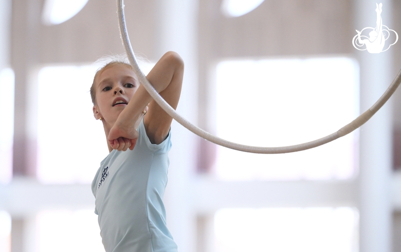
[{"label": "beige wall section above the large window right of the girl", "polygon": [[266,0],[257,9],[235,18],[218,11],[220,1],[209,1],[215,2],[209,6],[217,11],[203,13],[210,7],[201,8],[200,31],[205,34],[200,37],[213,36],[217,57],[352,52],[352,9],[348,0]]}]

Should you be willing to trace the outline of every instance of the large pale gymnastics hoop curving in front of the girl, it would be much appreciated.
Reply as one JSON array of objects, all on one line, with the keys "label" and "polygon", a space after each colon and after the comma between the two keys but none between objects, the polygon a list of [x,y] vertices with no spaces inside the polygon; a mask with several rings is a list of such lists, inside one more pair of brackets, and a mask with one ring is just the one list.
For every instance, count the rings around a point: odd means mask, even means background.
[{"label": "large pale gymnastics hoop curving in front of the girl", "polygon": [[376,103],[373,104],[373,106],[370,109],[368,109],[366,112],[364,112],[363,114],[358,116],[355,120],[353,120],[349,124],[345,125],[341,129],[339,129],[337,132],[334,132],[333,134],[322,137],[320,139],[317,139],[317,140],[314,140],[311,142],[305,142],[305,143],[289,145],[289,146],[280,146],[280,147],[258,147],[258,146],[250,146],[250,145],[234,143],[234,142],[230,142],[225,139],[222,139],[220,137],[216,137],[202,129],[199,129],[198,127],[193,125],[191,122],[189,122],[187,119],[185,119],[183,116],[179,115],[170,106],[170,104],[167,103],[157,93],[157,91],[153,88],[153,86],[148,81],[146,76],[140,70],[138,63],[136,61],[135,54],[131,47],[130,38],[128,37],[128,33],[126,30],[125,16],[124,16],[124,1],[123,0],[117,0],[117,15],[118,15],[122,44],[124,46],[126,55],[127,55],[128,59],[130,60],[130,63],[134,69],[135,74],[138,76],[140,83],[142,83],[143,87],[148,91],[148,93],[157,102],[157,104],[159,104],[159,106],[164,111],[166,111],[167,114],[169,114],[172,118],[174,118],[178,123],[183,125],[185,128],[187,128],[194,134],[196,134],[210,142],[213,142],[215,144],[218,144],[218,145],[221,145],[221,146],[233,149],[233,150],[237,150],[237,151],[260,153],[260,154],[280,154],[280,153],[298,152],[298,151],[304,151],[307,149],[312,149],[317,146],[323,145],[325,143],[331,142],[337,138],[343,137],[343,136],[353,132],[354,130],[358,129],[359,127],[361,127],[361,125],[363,123],[367,122],[393,95],[393,93],[398,88],[398,86],[401,82],[401,70],[400,70],[398,72],[396,78],[391,83],[390,87],[376,101]]}]

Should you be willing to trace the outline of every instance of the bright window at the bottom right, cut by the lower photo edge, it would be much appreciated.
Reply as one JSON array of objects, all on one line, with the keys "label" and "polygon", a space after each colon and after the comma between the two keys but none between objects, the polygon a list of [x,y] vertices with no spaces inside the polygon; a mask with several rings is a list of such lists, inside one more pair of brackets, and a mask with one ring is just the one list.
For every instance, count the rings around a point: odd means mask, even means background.
[{"label": "bright window at the bottom right, cut by the lower photo edge", "polygon": [[228,208],[214,216],[216,252],[357,252],[350,207]]}]

